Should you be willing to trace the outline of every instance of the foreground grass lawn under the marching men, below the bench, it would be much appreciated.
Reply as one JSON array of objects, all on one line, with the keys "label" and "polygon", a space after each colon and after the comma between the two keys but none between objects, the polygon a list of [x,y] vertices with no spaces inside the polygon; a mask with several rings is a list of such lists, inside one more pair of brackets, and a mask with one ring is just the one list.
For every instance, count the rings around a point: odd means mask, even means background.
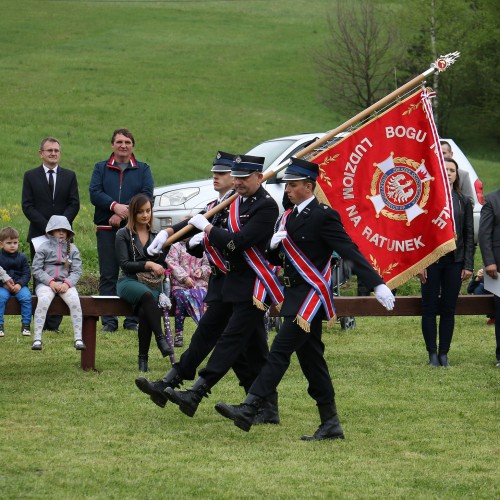
[{"label": "foreground grass lawn under the marching men, below the bench", "polygon": [[[243,399],[232,373],[193,419],[171,403],[161,410],[135,388],[135,335],[99,333],[99,371],[83,372],[67,321],[42,352],[17,318],[0,339],[2,498],[500,494],[500,370],[484,317],[457,319],[450,369],[427,366],[418,318],[325,329],[346,439],[319,443],[299,440],[319,421],[295,357],[279,387],[281,424],[247,434],[213,408]],[[166,363],[150,354],[159,378]]]}]

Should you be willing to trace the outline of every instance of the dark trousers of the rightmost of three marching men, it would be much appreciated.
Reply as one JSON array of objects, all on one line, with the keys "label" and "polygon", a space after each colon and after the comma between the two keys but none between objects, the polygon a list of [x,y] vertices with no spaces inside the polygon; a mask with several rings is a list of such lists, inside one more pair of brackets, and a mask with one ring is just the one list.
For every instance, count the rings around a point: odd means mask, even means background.
[{"label": "dark trousers of the rightmost of three marching men", "polygon": [[266,398],[275,392],[290,365],[292,354],[296,352],[302,372],[309,384],[307,388],[309,396],[318,405],[331,404],[335,400],[335,391],[324,358],[321,317],[313,319],[309,333],[302,330],[294,319],[294,316],[284,318],[283,325],[271,345],[267,363],[249,392],[261,398]]}]

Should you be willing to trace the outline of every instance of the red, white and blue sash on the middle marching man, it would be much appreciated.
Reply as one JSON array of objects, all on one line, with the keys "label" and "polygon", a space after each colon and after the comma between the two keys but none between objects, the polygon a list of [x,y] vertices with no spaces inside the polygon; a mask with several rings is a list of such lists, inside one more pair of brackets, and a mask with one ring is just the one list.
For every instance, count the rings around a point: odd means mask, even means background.
[{"label": "red, white and blue sash on the middle marching man", "polygon": [[[238,233],[241,230],[240,224],[240,197],[236,198],[229,207],[229,230],[233,233]],[[283,288],[276,276],[277,267],[272,266],[263,257],[260,251],[251,247],[243,251],[243,256],[248,265],[254,270],[257,275],[253,289],[253,303],[259,309],[265,310],[267,306],[264,302],[266,294],[269,294],[273,304],[279,310],[283,302]]]}]

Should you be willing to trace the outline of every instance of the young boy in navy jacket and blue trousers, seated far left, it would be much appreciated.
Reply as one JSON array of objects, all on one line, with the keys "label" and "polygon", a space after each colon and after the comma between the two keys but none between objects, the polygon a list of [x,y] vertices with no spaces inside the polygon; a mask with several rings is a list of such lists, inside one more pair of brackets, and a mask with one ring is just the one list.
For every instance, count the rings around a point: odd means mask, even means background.
[{"label": "young boy in navy jacket and blue trousers, seated far left", "polygon": [[0,287],[0,337],[4,332],[5,305],[11,296],[21,304],[21,334],[29,337],[31,324],[31,292],[27,284],[31,278],[26,255],[19,252],[19,233],[13,227],[0,229],[0,267],[8,278]]}]

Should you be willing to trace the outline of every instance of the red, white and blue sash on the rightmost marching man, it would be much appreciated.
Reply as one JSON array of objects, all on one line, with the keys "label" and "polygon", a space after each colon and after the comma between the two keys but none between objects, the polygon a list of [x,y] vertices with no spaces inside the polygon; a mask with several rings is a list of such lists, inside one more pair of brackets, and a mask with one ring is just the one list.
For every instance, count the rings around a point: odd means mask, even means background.
[{"label": "red, white and blue sash on the rightmost marching man", "polygon": [[[279,230],[285,229],[286,220],[291,209],[287,210],[281,219]],[[320,272],[313,263],[304,255],[297,247],[290,236],[282,241],[285,253],[297,270],[300,276],[311,285],[312,289],[307,294],[306,299],[300,306],[297,313],[297,324],[306,332],[311,331],[311,322],[318,312],[321,305],[325,310],[326,318],[329,324],[335,320],[335,308],[333,306],[333,296],[331,289],[332,271],[330,261],[327,262],[325,268]]]}]

